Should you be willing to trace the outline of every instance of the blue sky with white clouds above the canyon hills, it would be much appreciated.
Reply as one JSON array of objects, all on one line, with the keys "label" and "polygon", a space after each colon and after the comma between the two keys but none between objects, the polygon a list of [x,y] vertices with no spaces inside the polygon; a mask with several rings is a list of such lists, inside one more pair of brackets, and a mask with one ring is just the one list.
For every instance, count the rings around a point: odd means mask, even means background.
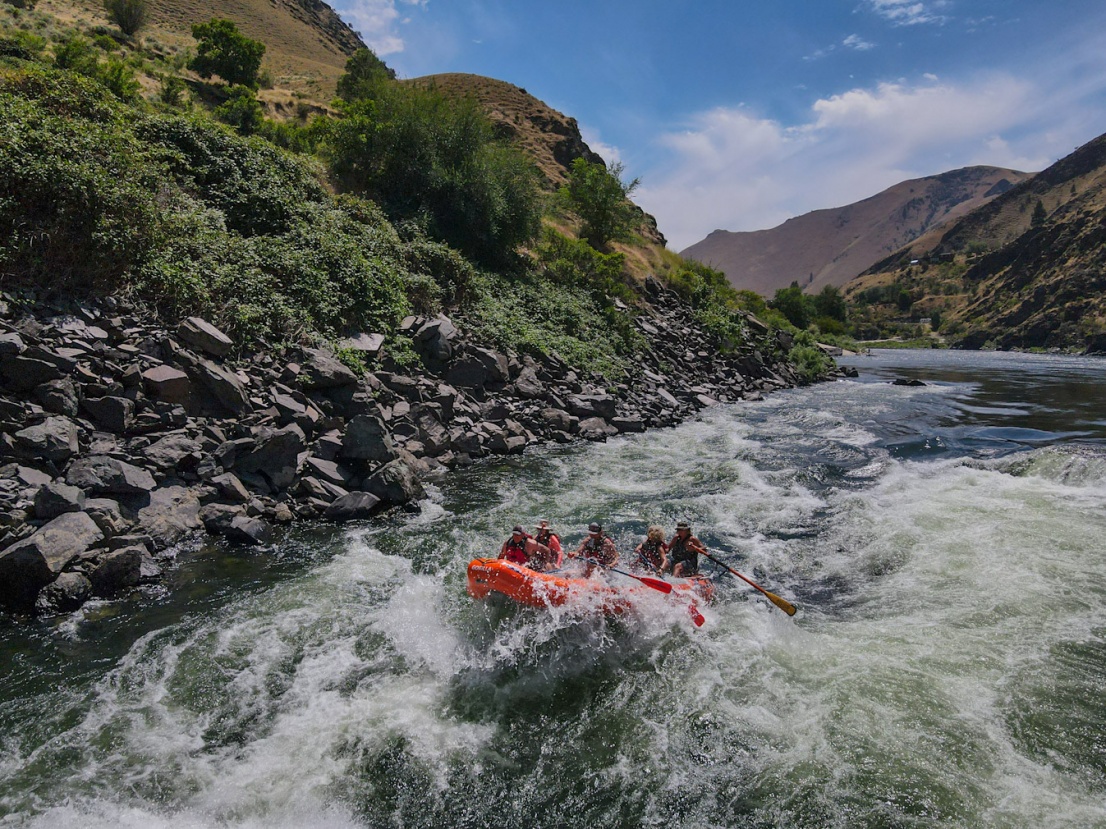
[{"label": "blue sky with white clouds above the canyon hills", "polygon": [[335,0],[401,77],[577,119],[681,250],[907,178],[1039,170],[1106,132],[1103,0]]}]

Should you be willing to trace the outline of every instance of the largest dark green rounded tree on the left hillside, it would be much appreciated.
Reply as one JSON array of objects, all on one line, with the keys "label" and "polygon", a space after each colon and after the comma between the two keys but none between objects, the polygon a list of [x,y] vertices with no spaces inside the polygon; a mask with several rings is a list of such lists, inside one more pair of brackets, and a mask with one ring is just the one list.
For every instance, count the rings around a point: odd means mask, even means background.
[{"label": "largest dark green rounded tree on the left hillside", "polygon": [[505,264],[538,231],[536,171],[494,139],[472,101],[392,84],[346,105],[345,117],[328,124],[323,150],[343,189],[484,264]]}]

